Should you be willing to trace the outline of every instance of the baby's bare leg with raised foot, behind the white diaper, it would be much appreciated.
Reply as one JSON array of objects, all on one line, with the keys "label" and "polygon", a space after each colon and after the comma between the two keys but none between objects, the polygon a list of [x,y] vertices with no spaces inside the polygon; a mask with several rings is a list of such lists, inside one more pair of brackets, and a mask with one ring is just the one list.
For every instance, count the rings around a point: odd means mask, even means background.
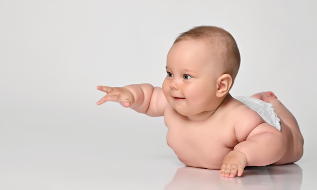
[{"label": "baby's bare leg with raised foot, behind the white diaper", "polygon": [[303,155],[304,139],[293,114],[271,91],[256,93],[252,97],[271,103],[275,113],[281,119],[281,132],[285,138],[287,150],[284,156],[274,164],[288,164],[298,161]]}]

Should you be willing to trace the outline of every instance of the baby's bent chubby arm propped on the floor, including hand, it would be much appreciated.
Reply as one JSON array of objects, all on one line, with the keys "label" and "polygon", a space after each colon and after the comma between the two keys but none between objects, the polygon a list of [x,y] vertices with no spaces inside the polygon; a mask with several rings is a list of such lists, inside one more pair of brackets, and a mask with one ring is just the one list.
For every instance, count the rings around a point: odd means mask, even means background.
[{"label": "baby's bent chubby arm propped on the floor, including hand", "polygon": [[254,111],[244,112],[247,113],[237,118],[234,128],[240,143],[224,157],[220,168],[221,175],[225,177],[241,176],[246,166],[272,164],[286,151],[281,131],[265,123]]}]

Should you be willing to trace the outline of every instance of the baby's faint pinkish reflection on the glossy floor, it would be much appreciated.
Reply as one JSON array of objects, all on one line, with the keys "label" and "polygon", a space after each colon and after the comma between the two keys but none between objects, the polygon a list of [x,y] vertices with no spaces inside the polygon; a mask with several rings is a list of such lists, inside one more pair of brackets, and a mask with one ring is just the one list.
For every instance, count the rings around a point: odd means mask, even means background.
[{"label": "baby's faint pinkish reflection on the glossy floor", "polygon": [[179,168],[165,190],[176,189],[300,189],[302,169],[297,164],[247,167],[242,177],[226,178],[218,170]]}]

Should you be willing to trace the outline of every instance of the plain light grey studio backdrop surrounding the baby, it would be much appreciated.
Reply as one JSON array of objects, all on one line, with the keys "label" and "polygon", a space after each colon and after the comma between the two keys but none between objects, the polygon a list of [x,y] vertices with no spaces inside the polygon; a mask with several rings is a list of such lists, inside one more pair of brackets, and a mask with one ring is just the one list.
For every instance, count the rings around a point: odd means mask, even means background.
[{"label": "plain light grey studio backdrop surrounding the baby", "polygon": [[163,189],[183,167],[166,145],[163,118],[96,106],[104,95],[96,86],[161,86],[174,39],[199,25],[223,27],[239,45],[233,96],[272,90],[294,113],[305,138],[297,164],[309,186],[316,5],[0,0],[0,187]]}]

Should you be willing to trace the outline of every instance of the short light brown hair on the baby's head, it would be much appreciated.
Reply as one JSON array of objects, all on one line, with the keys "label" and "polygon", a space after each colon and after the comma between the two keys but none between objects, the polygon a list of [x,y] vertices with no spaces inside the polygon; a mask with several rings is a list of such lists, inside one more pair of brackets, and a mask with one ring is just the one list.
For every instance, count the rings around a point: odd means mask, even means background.
[{"label": "short light brown hair on the baby's head", "polygon": [[[217,55],[222,58],[224,72],[231,75],[234,81],[240,67],[240,52],[232,35],[216,26],[198,26],[181,33],[174,44],[182,40],[202,40],[212,45]],[[223,74],[225,74],[223,73]]]}]

